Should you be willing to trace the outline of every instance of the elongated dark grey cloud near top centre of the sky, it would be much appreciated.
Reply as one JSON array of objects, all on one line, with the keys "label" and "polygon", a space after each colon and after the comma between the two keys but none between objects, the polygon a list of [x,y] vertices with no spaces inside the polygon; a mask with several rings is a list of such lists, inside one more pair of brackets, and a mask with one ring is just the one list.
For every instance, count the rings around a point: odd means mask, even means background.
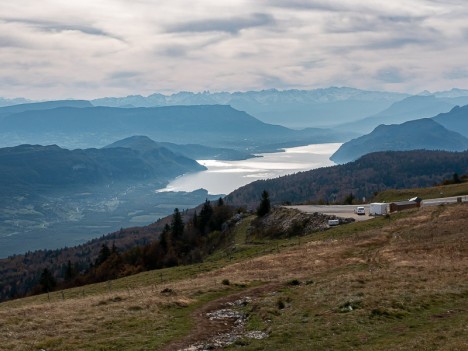
[{"label": "elongated dark grey cloud near top centre of the sky", "polygon": [[227,19],[207,19],[203,21],[189,21],[170,27],[169,32],[226,32],[236,34],[242,29],[262,27],[275,23],[273,16],[255,13],[250,17],[232,17]]}]

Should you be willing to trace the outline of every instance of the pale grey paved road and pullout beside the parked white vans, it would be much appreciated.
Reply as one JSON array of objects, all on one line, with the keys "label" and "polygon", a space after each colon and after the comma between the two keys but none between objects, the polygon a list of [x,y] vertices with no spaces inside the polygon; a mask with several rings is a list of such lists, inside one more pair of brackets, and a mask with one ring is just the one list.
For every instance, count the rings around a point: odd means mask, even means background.
[{"label": "pale grey paved road and pullout beside the parked white vans", "polygon": [[[456,203],[458,198],[462,199],[462,202],[468,202],[468,195],[463,196],[452,196],[452,197],[441,197],[438,199],[426,199],[422,201],[422,206],[437,206],[441,204],[451,204]],[[357,221],[365,221],[373,216],[369,216],[369,205],[359,205],[363,206],[366,210],[366,214],[364,216],[359,216],[354,213],[355,208],[357,205],[297,205],[297,206],[285,206],[288,208],[295,208],[302,212],[306,213],[324,213],[328,215],[335,215],[338,217],[345,217],[345,218],[354,218]]]}]

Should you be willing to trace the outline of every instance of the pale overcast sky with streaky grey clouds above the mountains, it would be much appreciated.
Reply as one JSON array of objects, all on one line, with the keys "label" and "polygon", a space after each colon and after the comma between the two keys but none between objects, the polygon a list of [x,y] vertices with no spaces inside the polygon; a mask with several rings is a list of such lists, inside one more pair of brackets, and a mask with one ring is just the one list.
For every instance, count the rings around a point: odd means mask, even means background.
[{"label": "pale overcast sky with streaky grey clouds above the mountains", "polygon": [[466,0],[0,3],[0,96],[468,88]]}]

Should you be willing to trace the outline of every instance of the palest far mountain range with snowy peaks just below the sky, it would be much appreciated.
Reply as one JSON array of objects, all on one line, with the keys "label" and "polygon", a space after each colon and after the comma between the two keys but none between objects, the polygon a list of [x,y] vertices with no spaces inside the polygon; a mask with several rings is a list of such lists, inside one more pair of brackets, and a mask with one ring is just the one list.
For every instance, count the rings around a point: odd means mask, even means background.
[{"label": "palest far mountain range with snowy peaks just below the sky", "polygon": [[172,95],[152,94],[147,97],[132,95],[96,99],[92,103],[96,106],[109,107],[230,105],[266,123],[305,128],[330,126],[369,116],[407,96],[409,95],[401,93],[330,87],[314,90],[269,89],[234,93],[179,92]]}]

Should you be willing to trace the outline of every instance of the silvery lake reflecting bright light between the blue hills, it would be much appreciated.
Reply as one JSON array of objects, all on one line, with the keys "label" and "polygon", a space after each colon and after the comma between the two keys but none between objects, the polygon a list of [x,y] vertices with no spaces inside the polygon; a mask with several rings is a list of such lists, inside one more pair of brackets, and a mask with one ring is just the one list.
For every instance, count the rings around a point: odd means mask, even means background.
[{"label": "silvery lake reflecting bright light between the blue hills", "polygon": [[159,191],[193,191],[200,188],[210,194],[229,194],[233,190],[259,179],[332,166],[329,157],[341,143],[313,144],[284,149],[284,152],[260,154],[242,161],[197,160],[208,169],[186,174]]}]

